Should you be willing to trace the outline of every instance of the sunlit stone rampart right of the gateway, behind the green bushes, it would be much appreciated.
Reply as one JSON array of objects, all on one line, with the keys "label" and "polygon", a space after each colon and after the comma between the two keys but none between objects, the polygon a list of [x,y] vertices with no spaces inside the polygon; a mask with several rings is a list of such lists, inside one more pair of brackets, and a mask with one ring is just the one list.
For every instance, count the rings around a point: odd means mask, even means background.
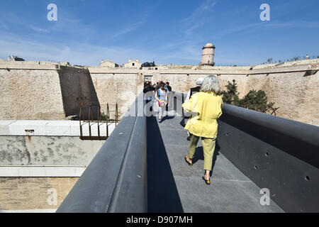
[{"label": "sunlit stone rampart right of the gateway, behind the green bushes", "polygon": [[[152,83],[160,79],[169,82],[174,91],[188,92],[196,86],[196,79],[208,74],[153,74]],[[214,74],[214,73],[213,73]],[[221,74],[218,76],[220,89],[235,79],[240,98],[251,89],[264,90],[268,101],[279,107],[276,116],[289,118],[319,126],[319,72],[305,76],[303,72],[285,72],[271,74]]]}]

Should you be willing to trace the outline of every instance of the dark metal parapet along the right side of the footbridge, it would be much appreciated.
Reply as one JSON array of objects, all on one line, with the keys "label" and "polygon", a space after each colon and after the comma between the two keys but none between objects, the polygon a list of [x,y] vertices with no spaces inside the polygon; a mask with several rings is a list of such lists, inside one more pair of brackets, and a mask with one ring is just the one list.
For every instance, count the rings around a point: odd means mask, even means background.
[{"label": "dark metal parapet along the right side of the footbridge", "polygon": [[[185,98],[174,94],[177,103]],[[318,126],[224,104],[217,143],[220,153],[281,209],[319,211]]]}]

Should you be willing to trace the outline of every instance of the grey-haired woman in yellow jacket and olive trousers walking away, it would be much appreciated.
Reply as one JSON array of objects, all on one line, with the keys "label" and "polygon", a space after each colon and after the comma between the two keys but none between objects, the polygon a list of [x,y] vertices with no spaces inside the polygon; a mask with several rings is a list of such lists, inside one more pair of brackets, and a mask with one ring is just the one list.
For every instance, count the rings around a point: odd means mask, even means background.
[{"label": "grey-haired woman in yellow jacket and olive trousers walking away", "polygon": [[185,111],[193,113],[185,126],[185,129],[191,134],[189,155],[185,155],[185,160],[189,165],[193,165],[192,158],[201,137],[205,170],[203,180],[206,184],[211,184],[210,172],[217,137],[217,119],[222,114],[223,108],[223,100],[218,95],[219,92],[220,87],[217,77],[209,75],[204,79],[200,91],[192,95],[191,99],[182,105]]}]

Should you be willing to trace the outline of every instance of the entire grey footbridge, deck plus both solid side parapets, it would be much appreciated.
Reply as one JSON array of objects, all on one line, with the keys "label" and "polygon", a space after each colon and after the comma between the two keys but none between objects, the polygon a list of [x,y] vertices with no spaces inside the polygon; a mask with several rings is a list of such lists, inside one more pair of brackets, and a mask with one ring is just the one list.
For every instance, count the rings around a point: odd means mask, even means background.
[{"label": "entire grey footbridge, deck plus both solid side parapets", "polygon": [[185,96],[159,123],[140,94],[57,212],[319,211],[318,127],[225,104],[208,186],[201,143],[184,160]]}]

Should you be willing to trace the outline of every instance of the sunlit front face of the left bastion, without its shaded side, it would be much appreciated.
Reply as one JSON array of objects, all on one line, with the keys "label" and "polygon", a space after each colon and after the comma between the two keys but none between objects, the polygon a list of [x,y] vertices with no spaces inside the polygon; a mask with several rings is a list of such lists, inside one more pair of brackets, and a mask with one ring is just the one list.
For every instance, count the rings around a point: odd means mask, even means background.
[{"label": "sunlit front face of the left bastion, without its shaded side", "polygon": [[0,119],[65,119],[57,70],[0,69]]}]

